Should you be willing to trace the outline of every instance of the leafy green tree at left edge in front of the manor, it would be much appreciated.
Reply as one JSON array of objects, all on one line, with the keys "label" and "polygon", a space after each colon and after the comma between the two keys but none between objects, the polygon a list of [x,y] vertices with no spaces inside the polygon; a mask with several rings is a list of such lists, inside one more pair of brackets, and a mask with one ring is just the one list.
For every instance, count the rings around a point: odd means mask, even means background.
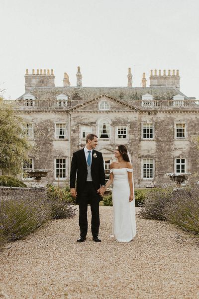
[{"label": "leafy green tree at left edge in front of the manor", "polygon": [[16,175],[22,172],[22,163],[28,159],[31,145],[27,137],[27,122],[11,102],[0,96],[0,170],[3,174]]}]

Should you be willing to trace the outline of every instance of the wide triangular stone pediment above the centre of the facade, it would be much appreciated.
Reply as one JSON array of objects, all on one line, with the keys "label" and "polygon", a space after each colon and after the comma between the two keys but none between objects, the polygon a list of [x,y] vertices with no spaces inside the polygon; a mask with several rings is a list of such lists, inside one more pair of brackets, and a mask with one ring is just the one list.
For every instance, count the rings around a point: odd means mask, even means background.
[{"label": "wide triangular stone pediment above the centre of the facade", "polygon": [[[102,101],[106,101],[109,104],[108,110],[100,110],[99,104]],[[101,111],[132,111],[132,110],[140,110],[139,108],[129,105],[128,103],[112,98],[109,95],[103,94],[98,96],[92,100],[86,101],[84,103],[78,104],[70,109],[71,111],[94,111],[94,112],[101,112]]]}]

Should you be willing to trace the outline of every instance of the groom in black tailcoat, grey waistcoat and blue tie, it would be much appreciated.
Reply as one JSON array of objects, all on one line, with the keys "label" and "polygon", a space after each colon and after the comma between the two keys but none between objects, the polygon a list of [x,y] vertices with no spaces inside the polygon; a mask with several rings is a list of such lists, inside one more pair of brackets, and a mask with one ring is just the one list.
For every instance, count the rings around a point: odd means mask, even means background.
[{"label": "groom in black tailcoat, grey waistcoat and blue tie", "polygon": [[[103,157],[100,151],[95,150],[98,145],[98,137],[94,134],[87,135],[86,147],[73,153],[71,162],[70,188],[71,195],[79,204],[80,238],[77,242],[84,242],[87,238],[88,203],[91,204],[91,230],[93,240],[101,242],[98,238],[100,227],[99,203],[100,194],[104,193],[105,174]],[[77,191],[75,188],[77,173]]]}]

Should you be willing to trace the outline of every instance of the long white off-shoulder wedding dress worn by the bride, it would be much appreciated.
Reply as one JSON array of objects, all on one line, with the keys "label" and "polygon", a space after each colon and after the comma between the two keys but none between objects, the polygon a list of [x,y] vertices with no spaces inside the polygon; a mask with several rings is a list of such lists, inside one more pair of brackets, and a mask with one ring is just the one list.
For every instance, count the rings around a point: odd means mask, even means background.
[{"label": "long white off-shoulder wedding dress worn by the bride", "polygon": [[[112,233],[118,242],[130,242],[136,234],[135,198],[129,202],[128,171],[131,168],[112,168],[113,173],[113,226]],[[133,185],[134,189],[134,185]]]}]

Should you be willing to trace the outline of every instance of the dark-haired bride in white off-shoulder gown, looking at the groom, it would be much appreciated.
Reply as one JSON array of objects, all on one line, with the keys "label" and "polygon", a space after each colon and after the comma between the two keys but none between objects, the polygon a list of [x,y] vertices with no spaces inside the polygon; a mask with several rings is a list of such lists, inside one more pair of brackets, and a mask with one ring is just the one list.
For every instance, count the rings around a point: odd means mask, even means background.
[{"label": "dark-haired bride in white off-shoulder gown, looking at the groom", "polygon": [[133,169],[125,146],[118,146],[114,156],[117,162],[110,164],[110,177],[105,185],[107,189],[113,182],[112,232],[116,241],[130,242],[136,234]]}]

